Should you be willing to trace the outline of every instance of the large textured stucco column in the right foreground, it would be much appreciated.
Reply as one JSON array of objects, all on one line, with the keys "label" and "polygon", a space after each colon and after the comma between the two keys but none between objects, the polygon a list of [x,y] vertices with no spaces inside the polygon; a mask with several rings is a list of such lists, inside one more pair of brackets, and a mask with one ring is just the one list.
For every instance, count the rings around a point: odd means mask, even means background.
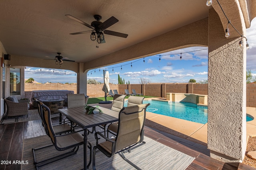
[{"label": "large textured stucco column in the right foreground", "polygon": [[246,49],[239,47],[238,33],[224,36],[214,10],[209,12],[208,33],[208,149],[212,158],[242,162],[246,151]]}]

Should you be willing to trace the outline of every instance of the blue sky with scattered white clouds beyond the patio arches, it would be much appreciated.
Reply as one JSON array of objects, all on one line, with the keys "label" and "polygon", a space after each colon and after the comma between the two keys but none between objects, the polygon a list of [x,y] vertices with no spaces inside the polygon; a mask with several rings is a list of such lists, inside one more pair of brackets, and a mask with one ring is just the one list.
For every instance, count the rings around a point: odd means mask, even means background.
[{"label": "blue sky with scattered white clouds beyond the patio arches", "polygon": [[[252,21],[251,27],[246,29],[244,36],[250,45],[250,49],[246,51],[246,70],[251,70],[252,75],[256,76],[256,19]],[[189,47],[96,68],[88,71],[87,80],[95,79],[98,82],[104,82],[103,70],[109,72],[110,83],[113,84],[118,84],[118,74],[125,83],[130,82],[130,84],[140,84],[141,79],[150,83],[179,83],[188,82],[190,79],[196,82],[206,81],[208,80],[208,48]],[[39,83],[76,83],[76,75],[70,70],[35,67],[25,69],[25,79],[34,78]]]}]

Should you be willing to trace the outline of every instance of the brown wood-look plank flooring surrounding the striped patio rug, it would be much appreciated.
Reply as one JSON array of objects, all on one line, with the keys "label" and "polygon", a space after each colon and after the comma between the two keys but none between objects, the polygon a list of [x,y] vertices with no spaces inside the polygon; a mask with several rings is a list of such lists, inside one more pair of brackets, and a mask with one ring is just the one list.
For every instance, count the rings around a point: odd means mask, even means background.
[{"label": "brown wood-look plank flooring surrounding the striped patio rug", "polygon": [[[210,158],[210,151],[204,145],[150,127],[145,126],[144,130],[145,136],[194,156],[195,160],[186,170],[255,170],[245,164],[227,164]],[[41,135],[46,135],[41,120],[0,125],[0,161],[22,160],[23,139]],[[20,170],[20,168],[20,164],[0,164],[0,170]]]}]

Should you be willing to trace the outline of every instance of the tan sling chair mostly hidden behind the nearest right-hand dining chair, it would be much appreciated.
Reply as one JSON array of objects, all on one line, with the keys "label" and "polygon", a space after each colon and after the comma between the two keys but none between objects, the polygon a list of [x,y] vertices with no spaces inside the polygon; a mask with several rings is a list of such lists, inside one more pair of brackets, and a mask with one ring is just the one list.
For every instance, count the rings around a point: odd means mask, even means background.
[{"label": "tan sling chair mostly hidden behind the nearest right-hand dining chair", "polygon": [[[127,107],[142,104],[143,100],[144,100],[144,97],[129,96]],[[118,122],[110,124],[107,129],[107,134],[112,133],[113,135],[116,135],[117,128],[118,128]]]}]

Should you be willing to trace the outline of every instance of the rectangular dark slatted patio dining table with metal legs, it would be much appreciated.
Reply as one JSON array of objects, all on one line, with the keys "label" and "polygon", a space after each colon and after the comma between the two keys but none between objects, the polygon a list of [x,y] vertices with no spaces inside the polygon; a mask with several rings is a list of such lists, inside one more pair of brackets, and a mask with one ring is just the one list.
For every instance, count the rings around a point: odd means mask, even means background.
[{"label": "rectangular dark slatted patio dining table with metal legs", "polygon": [[68,119],[76,123],[79,127],[84,129],[84,170],[87,166],[87,129],[96,127],[98,125],[112,123],[118,121],[119,112],[113,111],[104,107],[99,108],[103,113],[88,115],[84,107],[63,108],[58,109],[60,113],[65,115]]}]

